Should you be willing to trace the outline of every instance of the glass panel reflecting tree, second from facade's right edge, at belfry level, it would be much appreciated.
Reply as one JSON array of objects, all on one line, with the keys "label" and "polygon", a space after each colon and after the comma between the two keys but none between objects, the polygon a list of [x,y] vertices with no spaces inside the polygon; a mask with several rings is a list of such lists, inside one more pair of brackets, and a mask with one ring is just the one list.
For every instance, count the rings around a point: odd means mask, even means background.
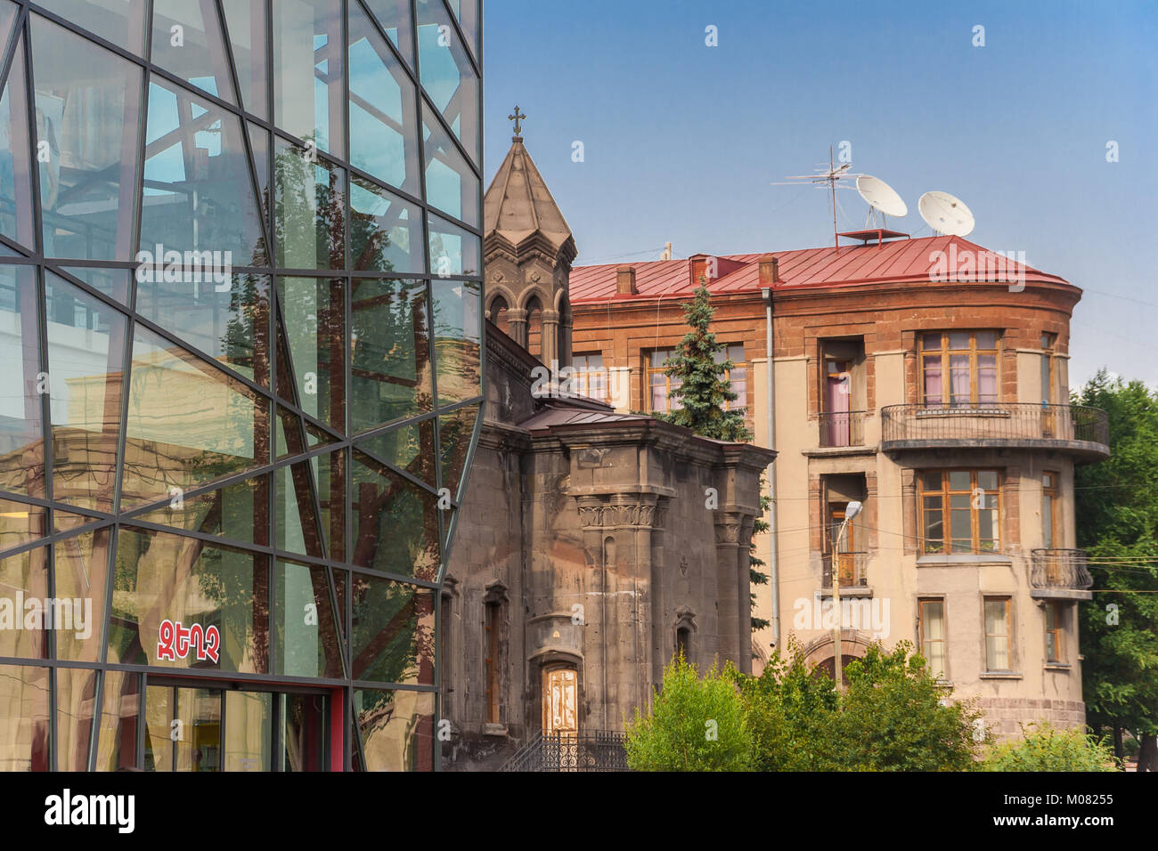
[{"label": "glass panel reflecting tree, second from facade's right edge, at belfry level", "polygon": [[433,408],[423,281],[356,280],[351,332],[353,431]]}]

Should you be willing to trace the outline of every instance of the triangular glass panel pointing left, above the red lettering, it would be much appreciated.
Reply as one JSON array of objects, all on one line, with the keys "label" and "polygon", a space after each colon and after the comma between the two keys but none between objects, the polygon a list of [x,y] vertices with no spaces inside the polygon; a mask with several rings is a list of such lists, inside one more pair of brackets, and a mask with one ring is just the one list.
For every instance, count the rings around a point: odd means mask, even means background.
[{"label": "triangular glass panel pointing left, above the red lettering", "polygon": [[270,537],[267,505],[269,477],[259,476],[197,497],[174,496],[164,506],[138,518],[149,523],[264,546]]}]

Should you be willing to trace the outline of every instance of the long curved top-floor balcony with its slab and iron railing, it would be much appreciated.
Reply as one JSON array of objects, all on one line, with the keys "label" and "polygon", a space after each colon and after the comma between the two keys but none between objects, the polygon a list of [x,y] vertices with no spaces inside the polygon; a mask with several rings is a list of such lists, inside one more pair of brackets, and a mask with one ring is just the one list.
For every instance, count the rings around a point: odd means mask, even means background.
[{"label": "long curved top-floor balcony with its slab and iron railing", "polygon": [[880,413],[882,452],[995,447],[1064,452],[1078,462],[1109,457],[1109,417],[1099,408],[888,405]]}]

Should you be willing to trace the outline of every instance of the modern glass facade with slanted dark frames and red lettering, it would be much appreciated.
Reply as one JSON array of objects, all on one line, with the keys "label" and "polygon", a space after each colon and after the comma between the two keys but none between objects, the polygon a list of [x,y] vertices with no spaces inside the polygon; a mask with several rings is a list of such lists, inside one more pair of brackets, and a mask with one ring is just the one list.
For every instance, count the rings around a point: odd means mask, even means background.
[{"label": "modern glass facade with slanted dark frames and red lettering", "polygon": [[478,0],[0,0],[0,769],[435,768]]}]

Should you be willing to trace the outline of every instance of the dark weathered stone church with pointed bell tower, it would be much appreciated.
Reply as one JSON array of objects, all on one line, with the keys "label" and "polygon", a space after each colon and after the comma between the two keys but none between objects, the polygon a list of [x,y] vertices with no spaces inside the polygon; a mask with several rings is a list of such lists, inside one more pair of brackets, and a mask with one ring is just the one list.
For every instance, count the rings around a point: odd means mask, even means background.
[{"label": "dark weathered stone church with pointed bell tower", "polygon": [[750,672],[775,457],[535,381],[571,364],[577,248],[515,132],[484,200],[486,416],[440,601],[447,770],[622,732],[677,650]]}]

